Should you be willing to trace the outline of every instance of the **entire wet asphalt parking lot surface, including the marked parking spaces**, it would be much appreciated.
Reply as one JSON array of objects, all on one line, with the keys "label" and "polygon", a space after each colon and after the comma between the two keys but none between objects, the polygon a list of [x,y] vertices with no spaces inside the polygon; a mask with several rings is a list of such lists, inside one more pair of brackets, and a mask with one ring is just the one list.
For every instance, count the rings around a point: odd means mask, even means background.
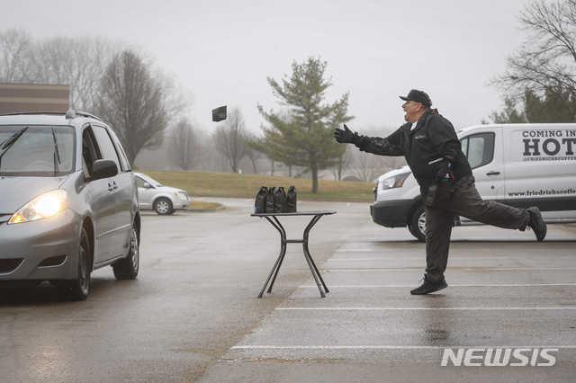
[{"label": "entire wet asphalt parking lot surface, including the marked parking spaces", "polygon": [[[301,245],[289,245],[272,294],[258,299],[278,234],[227,209],[144,214],[137,281],[94,272],[85,302],[55,289],[0,292],[3,381],[573,381],[576,227],[533,233],[457,227],[437,294],[410,296],[425,263],[407,229],[372,223],[367,203],[311,231],[330,292],[320,298]],[[288,237],[308,218],[285,218]],[[551,367],[441,367],[445,348],[543,348]],[[536,355],[536,363],[544,361]],[[476,360],[478,361],[478,360]]]}]

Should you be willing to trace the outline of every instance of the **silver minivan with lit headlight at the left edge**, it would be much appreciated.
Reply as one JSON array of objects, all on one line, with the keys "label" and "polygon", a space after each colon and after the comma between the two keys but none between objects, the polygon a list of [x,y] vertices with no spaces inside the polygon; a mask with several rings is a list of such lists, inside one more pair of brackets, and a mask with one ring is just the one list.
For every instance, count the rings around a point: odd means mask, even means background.
[{"label": "silver minivan with lit headlight at the left edge", "polygon": [[0,283],[50,281],[85,299],[94,269],[111,265],[119,280],[138,275],[134,175],[97,117],[0,116],[0,195]]}]

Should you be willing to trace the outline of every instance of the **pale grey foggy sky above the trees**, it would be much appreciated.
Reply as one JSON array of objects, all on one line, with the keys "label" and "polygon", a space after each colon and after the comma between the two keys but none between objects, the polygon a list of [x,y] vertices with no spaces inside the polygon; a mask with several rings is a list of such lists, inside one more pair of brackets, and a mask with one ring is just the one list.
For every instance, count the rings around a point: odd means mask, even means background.
[{"label": "pale grey foggy sky above the trees", "polygon": [[403,122],[400,94],[423,89],[456,127],[502,106],[488,86],[526,32],[506,1],[110,1],[3,2],[0,29],[34,38],[104,36],[147,52],[192,96],[190,115],[211,132],[211,109],[237,106],[255,132],[257,104],[278,108],[266,76],[294,60],[328,62],[329,101],[350,92],[356,130]]}]

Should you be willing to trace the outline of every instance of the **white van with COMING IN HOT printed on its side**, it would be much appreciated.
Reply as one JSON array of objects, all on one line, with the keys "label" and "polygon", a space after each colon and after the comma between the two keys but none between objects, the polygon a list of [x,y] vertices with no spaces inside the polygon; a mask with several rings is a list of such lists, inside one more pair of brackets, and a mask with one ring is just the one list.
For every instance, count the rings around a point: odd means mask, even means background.
[{"label": "white van with COMING IN HOT printed on its side", "polygon": [[[458,131],[484,200],[537,206],[547,223],[576,222],[576,124],[476,125]],[[426,239],[424,204],[410,167],[378,178],[372,219]],[[455,226],[481,225],[464,217]]]}]

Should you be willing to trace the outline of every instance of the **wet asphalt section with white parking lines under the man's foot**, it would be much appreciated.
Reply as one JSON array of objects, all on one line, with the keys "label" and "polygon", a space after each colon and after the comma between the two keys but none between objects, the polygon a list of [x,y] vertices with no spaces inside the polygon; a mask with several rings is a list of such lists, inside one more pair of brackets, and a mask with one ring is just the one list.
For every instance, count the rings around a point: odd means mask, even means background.
[{"label": "wet asphalt section with white parking lines under the man's foot", "polygon": [[[544,243],[492,227],[454,234],[450,287],[413,297],[423,245],[351,227],[320,267],[328,297],[303,281],[202,381],[573,381],[574,227],[551,226]],[[446,348],[557,352],[553,367],[441,367]]]}]

